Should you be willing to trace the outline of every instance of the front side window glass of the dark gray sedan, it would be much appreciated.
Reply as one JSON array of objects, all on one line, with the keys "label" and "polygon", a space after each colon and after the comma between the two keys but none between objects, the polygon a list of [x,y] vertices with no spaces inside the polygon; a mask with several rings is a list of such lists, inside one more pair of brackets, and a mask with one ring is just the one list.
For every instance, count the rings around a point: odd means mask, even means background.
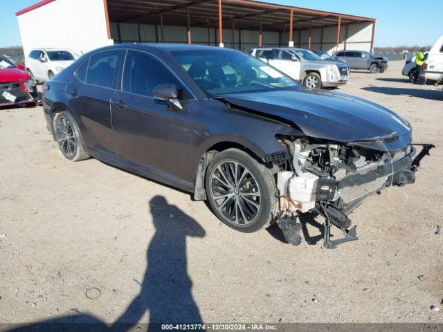
[{"label": "front side window glass of the dark gray sedan", "polygon": [[175,84],[179,100],[192,99],[183,84],[159,60],[145,53],[129,51],[123,72],[123,91],[153,97],[152,90],[159,84]]}]

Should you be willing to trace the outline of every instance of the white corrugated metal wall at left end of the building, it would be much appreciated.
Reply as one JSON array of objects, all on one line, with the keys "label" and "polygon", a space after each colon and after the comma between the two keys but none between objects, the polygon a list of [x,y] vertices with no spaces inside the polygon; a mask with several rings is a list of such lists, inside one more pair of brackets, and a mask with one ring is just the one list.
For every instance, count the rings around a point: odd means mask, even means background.
[{"label": "white corrugated metal wall at left end of the building", "polygon": [[113,44],[107,37],[103,0],[57,0],[17,19],[25,55],[39,47],[86,53]]}]

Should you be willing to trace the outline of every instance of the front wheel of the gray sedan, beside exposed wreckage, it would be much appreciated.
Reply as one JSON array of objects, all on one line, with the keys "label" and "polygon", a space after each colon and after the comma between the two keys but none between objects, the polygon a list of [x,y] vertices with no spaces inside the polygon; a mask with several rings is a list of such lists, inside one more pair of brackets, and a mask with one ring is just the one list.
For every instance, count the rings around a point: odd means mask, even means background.
[{"label": "front wheel of the gray sedan, beside exposed wreckage", "polygon": [[266,228],[277,205],[271,169],[239,149],[217,154],[206,170],[206,194],[221,222],[239,232]]}]

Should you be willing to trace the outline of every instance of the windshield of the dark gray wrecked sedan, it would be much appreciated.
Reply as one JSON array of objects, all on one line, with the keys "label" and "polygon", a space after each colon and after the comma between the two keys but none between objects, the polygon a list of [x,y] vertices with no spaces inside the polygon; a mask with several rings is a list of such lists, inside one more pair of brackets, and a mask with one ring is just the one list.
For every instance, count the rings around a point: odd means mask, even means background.
[{"label": "windshield of the dark gray wrecked sedan", "polygon": [[280,71],[237,50],[173,51],[172,56],[208,95],[302,89]]}]

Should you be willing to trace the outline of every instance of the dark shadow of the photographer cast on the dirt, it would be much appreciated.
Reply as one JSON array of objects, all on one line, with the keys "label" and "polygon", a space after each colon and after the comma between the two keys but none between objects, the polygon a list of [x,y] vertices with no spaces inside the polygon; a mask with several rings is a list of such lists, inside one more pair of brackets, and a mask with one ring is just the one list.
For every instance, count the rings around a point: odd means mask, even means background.
[{"label": "dark shadow of the photographer cast on the dirt", "polygon": [[147,269],[141,290],[114,324],[105,324],[94,315],[82,313],[12,326],[8,331],[142,331],[138,322],[147,311],[150,313],[147,331],[161,331],[162,323],[202,324],[191,293],[186,238],[204,237],[206,233],[197,221],[168,204],[163,196],[151,199],[150,211],[156,230],[147,248]]}]

